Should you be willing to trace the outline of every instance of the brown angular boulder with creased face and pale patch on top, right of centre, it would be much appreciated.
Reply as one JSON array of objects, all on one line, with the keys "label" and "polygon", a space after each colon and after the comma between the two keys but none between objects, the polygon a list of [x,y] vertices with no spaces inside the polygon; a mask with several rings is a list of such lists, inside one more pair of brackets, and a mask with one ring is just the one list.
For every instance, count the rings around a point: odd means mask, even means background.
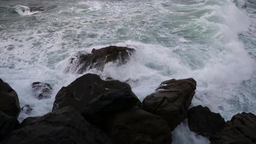
[{"label": "brown angular boulder with creased face and pale patch on top, right of centre", "polygon": [[197,82],[190,79],[171,79],[161,83],[157,91],[142,102],[144,111],[160,115],[174,128],[187,118],[187,110],[194,97]]}]

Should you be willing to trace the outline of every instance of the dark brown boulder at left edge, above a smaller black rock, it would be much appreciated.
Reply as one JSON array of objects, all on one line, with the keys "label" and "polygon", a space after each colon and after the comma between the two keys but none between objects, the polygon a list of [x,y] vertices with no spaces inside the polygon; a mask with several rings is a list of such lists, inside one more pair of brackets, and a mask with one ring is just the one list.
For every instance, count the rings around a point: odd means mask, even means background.
[{"label": "dark brown boulder at left edge, above a smaller black rock", "polygon": [[20,102],[17,93],[2,79],[0,79],[0,111],[15,118],[18,118],[20,114]]}]

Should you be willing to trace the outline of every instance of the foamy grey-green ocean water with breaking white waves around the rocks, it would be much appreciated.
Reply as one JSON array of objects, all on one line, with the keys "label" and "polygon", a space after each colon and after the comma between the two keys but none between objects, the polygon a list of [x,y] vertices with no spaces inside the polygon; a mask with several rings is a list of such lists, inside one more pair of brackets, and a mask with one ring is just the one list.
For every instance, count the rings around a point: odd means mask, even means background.
[{"label": "foamy grey-green ocean water with breaking white waves around the rocks", "polygon": [[[46,11],[30,12],[35,7]],[[65,72],[75,52],[109,45],[137,52],[125,65],[88,72],[129,83],[141,101],[165,80],[192,77],[191,107],[207,106],[226,121],[256,114],[256,0],[1,0],[0,78],[33,108],[19,121],[51,111],[59,89],[81,76]],[[33,97],[37,81],[53,86],[50,99]],[[187,120],[172,137],[209,143]]]}]

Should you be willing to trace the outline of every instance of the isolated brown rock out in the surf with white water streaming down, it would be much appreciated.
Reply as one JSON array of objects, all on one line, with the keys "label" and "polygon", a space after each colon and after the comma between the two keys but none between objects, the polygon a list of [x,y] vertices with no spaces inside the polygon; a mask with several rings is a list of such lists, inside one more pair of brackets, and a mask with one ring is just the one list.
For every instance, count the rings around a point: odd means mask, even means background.
[{"label": "isolated brown rock out in the surf with white water streaming down", "polygon": [[66,72],[84,73],[88,69],[103,70],[108,62],[118,65],[126,63],[135,49],[119,46],[108,46],[101,49],[92,49],[92,53],[78,52],[70,59]]}]

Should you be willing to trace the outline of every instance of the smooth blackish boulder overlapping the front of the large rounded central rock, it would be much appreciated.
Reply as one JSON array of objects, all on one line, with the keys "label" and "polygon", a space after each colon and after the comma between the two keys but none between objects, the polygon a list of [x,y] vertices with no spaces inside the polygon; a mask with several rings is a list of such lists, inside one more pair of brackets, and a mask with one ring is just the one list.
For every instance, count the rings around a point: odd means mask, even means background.
[{"label": "smooth blackish boulder overlapping the front of the large rounded central rock", "polygon": [[82,116],[91,124],[104,129],[105,121],[134,106],[141,107],[141,101],[130,88],[112,90],[92,100],[82,112]]}]

